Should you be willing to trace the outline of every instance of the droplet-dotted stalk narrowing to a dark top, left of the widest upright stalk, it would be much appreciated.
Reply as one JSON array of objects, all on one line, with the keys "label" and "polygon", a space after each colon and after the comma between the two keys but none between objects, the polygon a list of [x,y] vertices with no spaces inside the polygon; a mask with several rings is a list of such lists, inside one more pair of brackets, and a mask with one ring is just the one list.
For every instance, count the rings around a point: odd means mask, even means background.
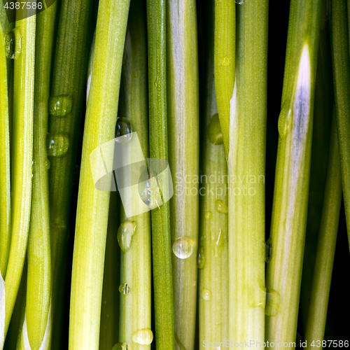
[{"label": "droplet-dotted stalk narrowing to a dark top, left of the widest upright stalk", "polygon": [[[214,5],[214,1],[211,1],[211,5]],[[213,22],[208,20],[212,29]],[[205,118],[201,122],[203,174],[200,181],[202,193],[197,255],[201,349],[210,342],[215,346],[216,342],[228,339],[228,169],[216,107],[214,32],[210,34],[207,36],[210,48],[204,99]],[[213,178],[215,181],[210,180]]]}]

